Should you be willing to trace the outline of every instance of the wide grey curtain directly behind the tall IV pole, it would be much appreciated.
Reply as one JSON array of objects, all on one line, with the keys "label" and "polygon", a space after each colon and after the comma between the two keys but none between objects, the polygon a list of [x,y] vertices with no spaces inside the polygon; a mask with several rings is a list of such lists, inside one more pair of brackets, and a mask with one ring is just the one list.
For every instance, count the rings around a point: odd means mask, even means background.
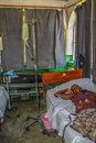
[{"label": "wide grey curtain directly behind the tall IV pole", "polygon": [[[29,24],[29,47],[26,56],[26,68],[34,68],[33,53],[33,29],[32,22],[35,21],[35,51],[39,69],[55,67],[54,55],[54,25],[55,10],[26,10],[26,23]],[[33,59],[33,61],[32,61]]]}]

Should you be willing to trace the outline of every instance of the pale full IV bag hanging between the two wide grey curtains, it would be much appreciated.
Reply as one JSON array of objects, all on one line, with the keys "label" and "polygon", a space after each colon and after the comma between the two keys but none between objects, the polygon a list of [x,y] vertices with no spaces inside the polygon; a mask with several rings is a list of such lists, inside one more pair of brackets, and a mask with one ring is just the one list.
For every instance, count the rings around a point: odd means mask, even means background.
[{"label": "pale full IV bag hanging between the two wide grey curtains", "polygon": [[22,25],[22,40],[28,41],[28,38],[29,38],[28,23],[23,23],[23,25]]}]

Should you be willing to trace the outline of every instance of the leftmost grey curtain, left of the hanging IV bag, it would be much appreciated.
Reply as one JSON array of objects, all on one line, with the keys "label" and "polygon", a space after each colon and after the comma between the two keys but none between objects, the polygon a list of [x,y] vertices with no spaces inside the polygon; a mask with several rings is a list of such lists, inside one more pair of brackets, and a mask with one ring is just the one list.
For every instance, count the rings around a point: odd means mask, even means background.
[{"label": "leftmost grey curtain, left of the hanging IV bag", "polygon": [[2,69],[23,69],[21,10],[0,9],[0,36],[3,38]]}]

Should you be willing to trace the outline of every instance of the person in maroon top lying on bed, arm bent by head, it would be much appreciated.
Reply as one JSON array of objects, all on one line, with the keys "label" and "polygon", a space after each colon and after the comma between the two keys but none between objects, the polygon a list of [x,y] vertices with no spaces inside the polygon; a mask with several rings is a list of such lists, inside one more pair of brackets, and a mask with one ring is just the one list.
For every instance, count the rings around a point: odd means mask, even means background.
[{"label": "person in maroon top lying on bed, arm bent by head", "polygon": [[88,108],[96,109],[96,94],[83,90],[78,85],[73,85],[71,89],[60,90],[54,96],[72,100],[76,106],[76,112]]}]

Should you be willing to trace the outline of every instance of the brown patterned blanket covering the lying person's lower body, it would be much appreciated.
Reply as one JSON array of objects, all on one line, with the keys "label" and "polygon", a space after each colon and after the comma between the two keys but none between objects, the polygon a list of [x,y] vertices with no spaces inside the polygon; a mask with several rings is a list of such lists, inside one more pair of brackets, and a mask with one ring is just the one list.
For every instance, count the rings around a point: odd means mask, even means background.
[{"label": "brown patterned blanket covering the lying person's lower body", "polygon": [[72,128],[96,142],[96,109],[84,109],[77,113]]}]

